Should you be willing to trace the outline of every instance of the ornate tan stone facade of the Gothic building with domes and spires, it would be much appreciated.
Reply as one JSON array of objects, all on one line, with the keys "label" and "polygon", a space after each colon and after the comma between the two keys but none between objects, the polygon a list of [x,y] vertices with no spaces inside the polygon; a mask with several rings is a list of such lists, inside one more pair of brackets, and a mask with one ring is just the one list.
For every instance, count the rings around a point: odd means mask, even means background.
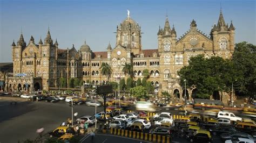
[{"label": "ornate tan stone facade of the Gothic building with domes and spires", "polygon": [[[128,15],[117,26],[116,45],[112,48],[109,44],[105,52],[92,52],[86,42],[78,51],[74,45],[71,49],[60,49],[57,40],[53,44],[49,30],[44,44],[41,39],[35,44],[31,36],[26,45],[21,34],[17,46],[15,42],[12,44],[14,75],[26,73],[40,78],[37,83],[39,89],[57,87],[56,79],[59,77],[78,77],[93,84],[104,84],[107,77],[100,72],[102,63],[109,63],[113,70],[110,81],[116,81],[117,77],[127,78],[128,75],[125,76],[122,72],[123,65],[131,63],[134,80],[142,78],[142,71],[148,69],[149,81],[159,87],[159,92],[169,91],[173,95],[174,90],[177,90],[182,95],[183,89],[179,85],[177,71],[188,65],[190,58],[198,54],[205,55],[205,58],[231,58],[234,51],[234,30],[232,22],[228,26],[220,11],[218,24],[214,24],[209,37],[198,30],[196,21],[192,20],[190,29],[177,38],[174,25],[171,28],[166,17],[164,28],[159,27],[157,33],[158,47],[142,49],[141,27]],[[193,89],[195,88],[187,88],[190,98]]]}]

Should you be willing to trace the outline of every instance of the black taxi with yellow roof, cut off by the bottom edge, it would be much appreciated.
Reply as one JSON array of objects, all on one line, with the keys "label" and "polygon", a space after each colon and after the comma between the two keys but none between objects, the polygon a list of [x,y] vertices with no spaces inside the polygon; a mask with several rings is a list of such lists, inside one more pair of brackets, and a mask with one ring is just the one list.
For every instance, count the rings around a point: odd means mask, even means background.
[{"label": "black taxi with yellow roof, cut off by the bottom edge", "polygon": [[212,142],[212,136],[209,131],[198,130],[194,133],[187,134],[187,140],[190,142]]}]

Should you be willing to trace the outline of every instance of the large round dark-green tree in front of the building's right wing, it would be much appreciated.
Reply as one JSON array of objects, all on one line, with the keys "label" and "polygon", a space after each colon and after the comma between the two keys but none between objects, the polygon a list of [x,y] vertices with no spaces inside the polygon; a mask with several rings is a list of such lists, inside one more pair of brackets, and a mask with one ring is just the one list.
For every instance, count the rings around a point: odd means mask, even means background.
[{"label": "large round dark-green tree in front of the building's right wing", "polygon": [[178,75],[183,87],[185,79],[187,87],[196,85],[199,98],[208,98],[214,91],[230,92],[232,78],[237,76],[230,60],[218,56],[205,59],[203,55],[192,57],[189,65],[181,68]]}]

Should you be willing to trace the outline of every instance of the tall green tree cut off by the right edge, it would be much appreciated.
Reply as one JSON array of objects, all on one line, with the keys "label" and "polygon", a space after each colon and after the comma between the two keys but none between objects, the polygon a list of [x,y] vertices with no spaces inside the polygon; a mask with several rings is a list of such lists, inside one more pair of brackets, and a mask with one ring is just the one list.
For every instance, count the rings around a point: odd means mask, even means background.
[{"label": "tall green tree cut off by the right edge", "polygon": [[256,95],[256,46],[245,41],[235,44],[233,65],[237,78],[233,78],[234,89],[241,96]]}]

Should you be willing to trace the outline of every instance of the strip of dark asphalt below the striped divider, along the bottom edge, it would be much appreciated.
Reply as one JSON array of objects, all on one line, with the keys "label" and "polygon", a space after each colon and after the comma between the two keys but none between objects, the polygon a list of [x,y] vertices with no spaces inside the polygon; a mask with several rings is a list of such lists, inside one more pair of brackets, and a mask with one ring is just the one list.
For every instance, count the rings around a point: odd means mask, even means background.
[{"label": "strip of dark asphalt below the striped divider, along the bottom edge", "polygon": [[84,137],[81,142],[83,143],[145,143],[147,141],[137,140],[137,139],[131,139],[126,137],[117,137],[115,135],[109,135],[109,134],[95,134],[95,137],[92,139],[90,135],[87,135],[87,137]]}]

